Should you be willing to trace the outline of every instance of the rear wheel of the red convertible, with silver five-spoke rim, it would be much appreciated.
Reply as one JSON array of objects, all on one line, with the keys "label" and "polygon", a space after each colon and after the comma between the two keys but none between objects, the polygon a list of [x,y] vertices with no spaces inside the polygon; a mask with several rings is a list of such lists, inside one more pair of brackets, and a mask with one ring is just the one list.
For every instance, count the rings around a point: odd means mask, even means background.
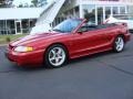
[{"label": "rear wheel of the red convertible, with silver five-spoke rim", "polygon": [[116,53],[120,53],[124,50],[124,38],[123,36],[119,35],[115,40],[114,40],[114,44],[113,44],[113,51]]}]

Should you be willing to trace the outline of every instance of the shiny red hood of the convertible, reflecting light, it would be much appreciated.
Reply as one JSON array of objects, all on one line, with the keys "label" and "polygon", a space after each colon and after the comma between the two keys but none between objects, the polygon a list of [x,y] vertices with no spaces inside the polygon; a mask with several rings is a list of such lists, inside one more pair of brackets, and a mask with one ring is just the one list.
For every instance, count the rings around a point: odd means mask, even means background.
[{"label": "shiny red hood of the convertible, reflecting light", "polygon": [[34,44],[40,41],[45,41],[48,38],[52,38],[53,36],[62,35],[63,33],[43,33],[43,34],[34,34],[34,35],[27,35],[24,37],[18,38],[10,43],[11,46],[22,46]]}]

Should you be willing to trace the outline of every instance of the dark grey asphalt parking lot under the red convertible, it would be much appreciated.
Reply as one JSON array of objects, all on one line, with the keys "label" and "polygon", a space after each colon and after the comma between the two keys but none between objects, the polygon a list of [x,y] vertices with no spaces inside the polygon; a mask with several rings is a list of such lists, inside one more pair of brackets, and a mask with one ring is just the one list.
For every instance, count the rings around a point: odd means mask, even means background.
[{"label": "dark grey asphalt parking lot under the red convertible", "polygon": [[0,99],[133,99],[133,35],[122,53],[105,52],[57,69],[22,68],[0,47]]}]

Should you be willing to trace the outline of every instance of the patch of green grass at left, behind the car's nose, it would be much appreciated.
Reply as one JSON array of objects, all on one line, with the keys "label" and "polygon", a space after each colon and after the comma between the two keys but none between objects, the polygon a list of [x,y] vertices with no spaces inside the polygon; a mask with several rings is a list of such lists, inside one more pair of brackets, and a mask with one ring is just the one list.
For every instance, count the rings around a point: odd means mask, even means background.
[{"label": "patch of green grass at left, behind the car's nose", "polygon": [[8,44],[9,42],[17,40],[19,37],[25,36],[28,34],[9,34],[9,35],[0,35],[0,44]]}]

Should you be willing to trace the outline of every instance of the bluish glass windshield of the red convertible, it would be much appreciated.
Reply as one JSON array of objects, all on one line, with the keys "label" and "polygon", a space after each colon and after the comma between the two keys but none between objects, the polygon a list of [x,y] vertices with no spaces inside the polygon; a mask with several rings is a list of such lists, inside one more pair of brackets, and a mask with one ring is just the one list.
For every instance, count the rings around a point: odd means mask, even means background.
[{"label": "bluish glass windshield of the red convertible", "polygon": [[80,19],[69,19],[61,22],[59,25],[57,25],[53,29],[53,31],[61,32],[61,33],[72,32],[81,23],[82,23],[82,20]]}]

